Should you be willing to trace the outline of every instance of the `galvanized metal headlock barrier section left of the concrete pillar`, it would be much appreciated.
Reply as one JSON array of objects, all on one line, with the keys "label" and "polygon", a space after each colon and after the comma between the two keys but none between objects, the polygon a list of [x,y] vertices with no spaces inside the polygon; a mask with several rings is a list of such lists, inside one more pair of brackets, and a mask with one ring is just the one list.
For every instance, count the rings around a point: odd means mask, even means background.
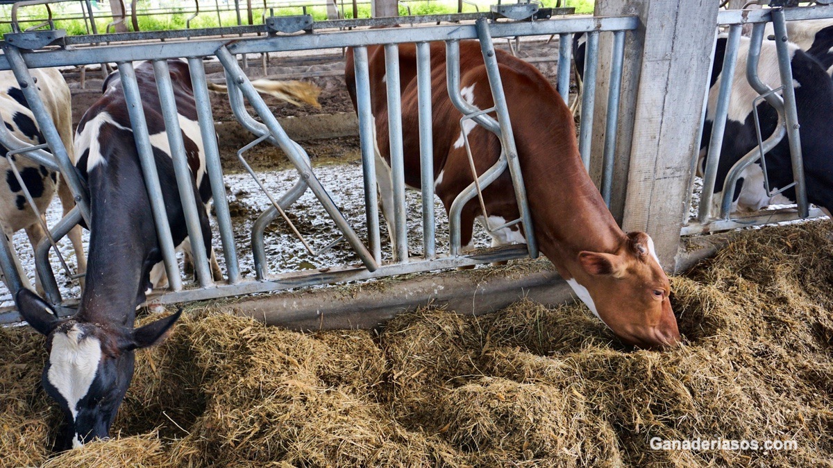
[{"label": "galvanized metal headlock barrier section left of the concrete pillar", "polygon": [[[503,7],[506,7],[504,5]],[[527,11],[530,10],[526,4]],[[533,12],[534,14],[534,12]],[[460,21],[472,19],[472,15],[466,13],[463,17],[454,15],[441,15],[437,17],[408,17],[405,21],[411,24],[419,22],[437,21]],[[497,63],[492,37],[519,37],[519,36],[546,36],[558,34],[561,38],[559,82],[558,90],[561,96],[567,99],[569,90],[569,67],[572,34],[576,32],[590,32],[591,40],[588,42],[587,76],[594,76],[597,66],[598,35],[600,33],[611,33],[614,36],[614,53],[611,57],[611,85],[608,105],[611,108],[618,108],[619,93],[622,73],[622,62],[624,56],[624,43],[626,31],[637,27],[636,17],[569,17],[560,19],[510,21],[506,19],[497,20],[497,13],[480,13],[476,15],[476,23],[456,23],[450,25],[424,25],[420,27],[397,27],[387,29],[362,29],[361,27],[387,24],[395,22],[396,18],[374,18],[369,20],[338,21],[338,22],[312,22],[310,17],[272,17],[267,24],[260,27],[241,27],[239,31],[242,37],[236,37],[234,41],[218,38],[221,33],[235,31],[235,28],[222,28],[222,31],[195,30],[192,31],[191,40],[177,40],[182,37],[181,32],[136,32],[106,37],[60,37],[50,31],[19,32],[6,37],[3,44],[5,54],[0,55],[0,70],[12,69],[20,82],[27,101],[32,104],[32,110],[37,116],[37,123],[47,141],[52,154],[44,152],[42,147],[28,147],[23,142],[14,142],[7,132],[0,129],[0,143],[25,157],[35,159],[42,164],[61,170],[66,178],[69,187],[75,194],[78,205],[71,213],[55,227],[52,227],[51,236],[60,239],[66,235],[68,230],[77,222],[89,218],[89,205],[87,194],[77,174],[69,162],[67,152],[57,130],[43,110],[43,104],[36,90],[28,86],[31,82],[29,68],[37,67],[60,67],[77,66],[91,63],[115,62],[122,74],[124,92],[129,104],[129,113],[132,121],[132,130],[136,136],[137,151],[142,162],[142,171],[147,185],[147,192],[152,202],[152,212],[156,222],[157,235],[162,247],[162,257],[167,269],[169,288],[165,291],[155,291],[149,296],[152,303],[171,303],[181,301],[196,301],[218,298],[223,296],[235,296],[253,292],[279,291],[300,286],[321,285],[337,281],[354,281],[379,276],[391,276],[417,271],[431,271],[442,268],[471,266],[487,262],[505,261],[522,257],[536,257],[538,255],[536,239],[531,226],[531,214],[526,204],[526,192],[523,187],[523,178],[520,165],[517,160],[512,127],[506,109],[506,98],[501,86],[501,78],[497,73]],[[353,27],[351,31],[327,31],[325,27]],[[306,33],[293,33],[305,31]],[[254,35],[257,33],[259,35]],[[57,37],[57,38],[56,38]],[[486,62],[486,70],[491,84],[492,97],[495,107],[491,109],[478,109],[468,104],[461,97],[460,90],[460,62],[459,62],[459,41],[465,39],[477,39],[481,42],[483,57]],[[93,45],[103,41],[110,41],[107,46]],[[140,42],[141,41],[141,42]],[[449,94],[452,102],[463,114],[463,119],[471,119],[477,125],[485,127],[493,132],[500,139],[503,148],[502,155],[496,164],[486,172],[477,175],[476,182],[467,187],[464,192],[456,198],[451,207],[450,214],[450,250],[446,253],[436,252],[435,244],[435,217],[433,212],[433,172],[432,146],[431,146],[431,82],[429,77],[430,57],[428,42],[445,42],[447,53],[446,77],[449,87]],[[397,45],[402,43],[416,42],[417,54],[417,81],[419,95],[419,130],[420,130],[420,156],[421,171],[423,174],[421,188],[423,192],[422,203],[422,226],[423,226],[423,254],[422,256],[409,256],[407,251],[407,231],[405,229],[405,183],[402,164],[402,122],[400,102],[400,89],[398,79],[398,53]],[[397,227],[394,232],[397,239],[396,261],[382,263],[382,242],[380,240],[379,216],[377,210],[377,188],[376,171],[374,167],[374,122],[371,115],[370,87],[368,79],[367,46],[380,44],[385,47],[385,59],[388,78],[387,79],[387,104],[392,110],[389,112],[389,129],[391,141],[391,166],[392,182],[395,200],[395,217]],[[57,46],[57,47],[56,47]],[[73,47],[71,47],[73,46]],[[322,49],[334,47],[353,47],[355,53],[355,67],[357,76],[357,107],[360,125],[361,150],[362,150],[362,172],[364,177],[364,201],[367,213],[367,243],[357,235],[357,231],[344,217],[334,202],[327,189],[316,177],[312,169],[307,152],[292,139],[287,137],[275,116],[267,107],[267,104],[258,95],[252,83],[242,72],[238,65],[238,57],[245,57],[246,54],[262,52],[286,52],[309,49]],[[156,174],[156,166],[153,163],[152,147],[147,134],[147,123],[144,122],[144,115],[141,110],[141,97],[139,96],[136,77],[133,72],[132,62],[151,60],[154,72],[157,77],[157,89],[162,102],[165,124],[167,128],[168,142],[173,153],[174,169],[176,171],[180,197],[183,201],[187,230],[191,236],[192,245],[202,245],[202,232],[197,219],[197,207],[192,193],[192,184],[187,182],[191,177],[187,159],[182,147],[182,137],[177,120],[176,104],[172,95],[170,78],[167,73],[168,58],[187,57],[188,66],[192,75],[192,84],[197,101],[197,111],[202,139],[205,145],[207,172],[211,180],[214,207],[217,214],[217,226],[222,241],[222,251],[225,257],[225,278],[224,281],[212,281],[212,275],[208,266],[208,259],[205,252],[200,248],[193,249],[195,254],[195,269],[198,274],[199,284],[188,287],[183,286],[182,275],[177,264],[177,257],[167,226],[162,191]],[[212,108],[207,94],[207,80],[203,67],[205,57],[217,57],[224,67],[228,98],[232,111],[243,127],[246,127],[254,135],[252,143],[243,147],[238,152],[238,157],[247,166],[244,154],[248,149],[261,142],[270,142],[280,147],[286,153],[293,167],[298,172],[295,185],[281,196],[268,194],[272,206],[263,211],[252,227],[252,255],[255,262],[255,276],[242,276],[237,257],[237,246],[234,242],[232,232],[232,220],[229,215],[226,190],[223,186],[222,167],[216,139],[214,137],[214,122],[212,119]],[[588,80],[590,81],[590,80]],[[594,93],[588,92],[585,97],[585,108],[591,109],[594,105]],[[261,122],[247,113],[244,107],[244,99],[247,100]],[[491,115],[493,114],[494,117]],[[608,112],[606,128],[608,135],[616,135],[617,112]],[[581,155],[585,162],[589,161],[590,138],[592,119],[586,119],[581,126]],[[613,130],[613,131],[611,131]],[[615,137],[609,138],[604,146],[605,167],[612,167],[613,155],[615,152]],[[511,180],[514,183],[516,200],[518,202],[521,218],[509,224],[520,223],[525,228],[527,244],[496,247],[476,251],[463,255],[460,251],[460,212],[466,202],[474,197],[481,197],[481,191],[494,181],[502,172],[508,170]],[[253,174],[253,176],[257,175]],[[258,184],[261,182],[258,181]],[[270,274],[267,269],[267,254],[265,249],[264,232],[269,223],[284,217],[287,222],[286,211],[292,207],[298,197],[308,190],[317,197],[317,201],[327,211],[338,231],[345,239],[358,258],[362,266],[336,266],[322,268],[317,271],[292,271],[282,274]],[[609,198],[610,187],[606,188]],[[291,224],[291,223],[290,223]],[[506,227],[504,225],[503,227]],[[491,227],[496,229],[499,227]],[[296,233],[297,229],[292,227]],[[314,253],[314,249],[303,241],[307,249]],[[48,261],[48,252],[52,245],[49,241],[42,242],[37,246],[37,272],[42,278],[46,291],[47,300],[58,306],[60,313],[72,313],[70,308],[74,304],[73,298],[64,298],[58,289],[55,276]],[[326,247],[325,247],[326,248]],[[28,286],[26,276],[22,275],[13,250],[8,241],[0,241],[0,266],[6,277],[6,284],[9,290],[14,292],[21,287]],[[7,313],[0,316],[0,321],[17,320],[17,315]]]}]

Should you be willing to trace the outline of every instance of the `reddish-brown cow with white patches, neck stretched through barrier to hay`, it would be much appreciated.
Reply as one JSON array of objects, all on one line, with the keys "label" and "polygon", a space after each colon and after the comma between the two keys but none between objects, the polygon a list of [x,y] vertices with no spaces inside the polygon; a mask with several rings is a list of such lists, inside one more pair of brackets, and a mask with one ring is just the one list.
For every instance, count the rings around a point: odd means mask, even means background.
[{"label": "reddish-brown cow with white patches, neck stretched through barrier to hay", "polygon": [[[587,175],[576,143],[570,111],[546,78],[530,64],[497,52],[497,61],[512,118],[518,158],[526,183],[535,234],[541,252],[556,266],[596,316],[623,341],[654,348],[680,341],[671,311],[668,277],[644,232],[622,232]],[[478,42],[460,43],[461,92],[468,102],[492,106]],[[387,100],[384,50],[369,47],[371,102],[376,119],[377,167],[388,165]],[[420,187],[416,47],[399,47],[402,85],[402,128],[405,182]],[[347,53],[347,87],[356,102],[352,51]],[[446,51],[431,44],[431,104],[433,106],[434,180],[436,194],[446,206],[473,177],[463,145],[467,133],[478,174],[491,167],[501,152],[497,138],[481,127],[461,130],[461,113],[446,89]],[[378,169],[377,169],[378,170]],[[389,171],[389,170],[388,170]],[[378,174],[382,208],[388,211],[385,190],[390,177]],[[516,219],[518,210],[508,172],[483,191],[489,217]],[[482,217],[479,203],[469,202],[462,212],[461,241],[471,241],[472,225]],[[392,218],[388,217],[388,223]],[[496,236],[498,243],[522,239],[516,227]]]}]

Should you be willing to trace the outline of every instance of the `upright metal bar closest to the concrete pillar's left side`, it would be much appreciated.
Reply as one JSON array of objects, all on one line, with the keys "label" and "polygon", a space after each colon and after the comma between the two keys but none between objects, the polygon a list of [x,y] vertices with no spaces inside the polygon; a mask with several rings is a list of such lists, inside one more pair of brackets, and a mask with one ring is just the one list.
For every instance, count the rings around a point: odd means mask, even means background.
[{"label": "upright metal bar closest to the concrete pillar's left side", "polygon": [[619,124],[619,97],[622,84],[622,63],[625,60],[625,32],[613,33],[611,53],[611,84],[607,91],[607,118],[605,125],[605,152],[601,171],[601,197],[611,207],[613,166],[616,158],[616,127]]}]

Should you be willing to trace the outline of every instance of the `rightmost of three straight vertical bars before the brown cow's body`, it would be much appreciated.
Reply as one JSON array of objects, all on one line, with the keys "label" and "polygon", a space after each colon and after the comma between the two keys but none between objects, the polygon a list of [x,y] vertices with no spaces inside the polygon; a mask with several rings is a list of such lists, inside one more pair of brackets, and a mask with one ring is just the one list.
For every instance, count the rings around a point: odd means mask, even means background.
[{"label": "rightmost of three straight vertical bars before the brown cow's body", "polygon": [[416,42],[416,92],[419,102],[419,157],[422,182],[422,249],[436,256],[434,220],[434,142],[431,118],[431,44]]}]

